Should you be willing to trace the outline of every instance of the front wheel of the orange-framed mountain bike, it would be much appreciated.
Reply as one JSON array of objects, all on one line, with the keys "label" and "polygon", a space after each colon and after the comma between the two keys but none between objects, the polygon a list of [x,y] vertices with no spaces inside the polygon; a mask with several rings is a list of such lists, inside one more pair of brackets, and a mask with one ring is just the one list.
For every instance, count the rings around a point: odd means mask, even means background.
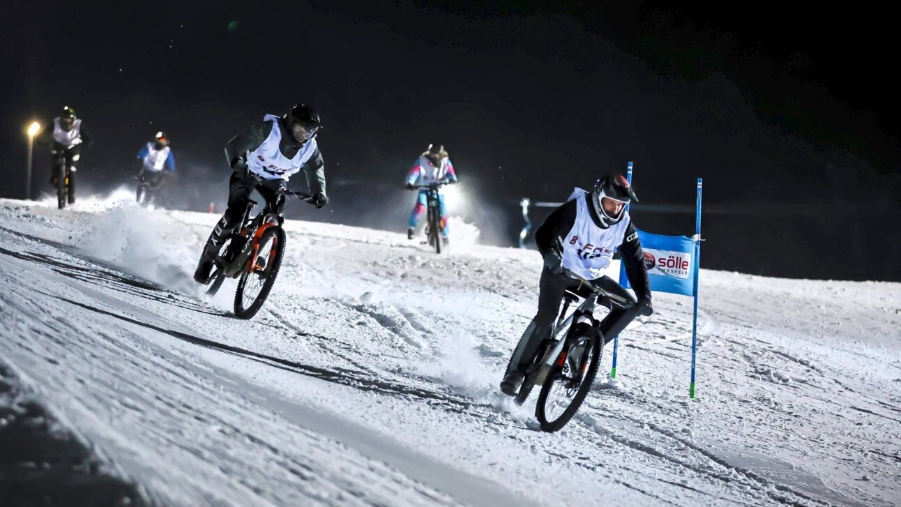
[{"label": "front wheel of the orange-framed mountain bike", "polygon": [[[276,283],[278,267],[285,253],[285,231],[281,227],[270,227],[259,238],[256,258],[250,258],[250,267],[241,273],[238,291],[234,294],[234,314],[241,319],[250,319],[259,312],[266,302],[272,285]],[[259,269],[259,259],[266,263]]]}]

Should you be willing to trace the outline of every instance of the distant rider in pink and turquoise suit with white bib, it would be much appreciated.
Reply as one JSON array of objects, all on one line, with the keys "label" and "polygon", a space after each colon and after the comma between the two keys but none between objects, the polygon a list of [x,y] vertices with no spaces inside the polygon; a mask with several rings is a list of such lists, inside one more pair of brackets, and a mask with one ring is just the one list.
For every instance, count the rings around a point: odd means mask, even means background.
[{"label": "distant rider in pink and turquoise suit with white bib", "polygon": [[[438,143],[429,145],[429,148],[423,151],[423,154],[416,159],[413,168],[410,169],[406,176],[406,189],[415,190],[417,186],[428,186],[434,183],[457,183],[457,174],[454,173],[451,158],[448,152],[444,150],[444,146]],[[447,207],[444,205],[444,195],[439,195],[438,204],[441,208],[441,242],[448,244],[448,227]],[[416,196],[416,205],[413,212],[410,213],[409,228],[406,230],[407,239],[413,240],[416,233],[416,225],[425,212],[426,191],[424,188],[419,189],[419,195]]]}]

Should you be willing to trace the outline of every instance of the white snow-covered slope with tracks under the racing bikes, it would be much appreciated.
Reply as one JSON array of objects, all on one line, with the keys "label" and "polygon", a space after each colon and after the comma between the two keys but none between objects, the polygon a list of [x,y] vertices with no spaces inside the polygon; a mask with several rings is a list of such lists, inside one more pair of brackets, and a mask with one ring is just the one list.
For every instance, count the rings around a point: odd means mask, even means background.
[{"label": "white snow-covered slope with tracks under the racing bikes", "polygon": [[691,300],[656,294],[546,434],[496,392],[534,252],[287,222],[241,321],[191,280],[217,218],[0,201],[0,362],[150,502],[901,502],[901,285],[702,270],[697,398]]}]

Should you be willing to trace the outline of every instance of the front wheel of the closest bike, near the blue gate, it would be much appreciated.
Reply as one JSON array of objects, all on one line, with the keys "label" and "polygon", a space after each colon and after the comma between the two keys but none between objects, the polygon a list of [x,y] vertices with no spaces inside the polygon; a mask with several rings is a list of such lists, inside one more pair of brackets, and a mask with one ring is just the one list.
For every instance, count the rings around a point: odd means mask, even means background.
[{"label": "front wheel of the closest bike, near the blue gate", "polygon": [[535,418],[542,431],[560,430],[578,412],[595,381],[604,352],[601,343],[601,333],[585,322],[569,332],[561,353],[565,358],[562,364],[551,367],[535,405]]}]

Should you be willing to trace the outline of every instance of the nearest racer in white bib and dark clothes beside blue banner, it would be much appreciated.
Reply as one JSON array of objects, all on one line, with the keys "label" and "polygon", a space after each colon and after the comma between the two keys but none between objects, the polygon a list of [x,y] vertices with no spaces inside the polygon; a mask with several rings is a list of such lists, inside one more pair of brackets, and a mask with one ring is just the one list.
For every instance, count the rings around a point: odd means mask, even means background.
[{"label": "nearest racer in white bib and dark clothes beside blue banner", "polygon": [[[535,231],[535,245],[544,259],[538,289],[538,313],[523,333],[507,367],[501,391],[514,396],[523,383],[526,369],[542,340],[549,338],[560,312],[560,301],[569,289],[578,290],[579,281],[563,268],[594,282],[605,291],[633,302],[625,309],[613,310],[600,323],[605,343],[613,340],[638,315],[650,315],[651,285],[644,267],[642,243],[626,204],[638,197],[622,175],[603,177],[591,192],[577,190],[569,201],[555,209]],[[626,276],[638,301],[605,269],[616,251],[620,251]]]}]

